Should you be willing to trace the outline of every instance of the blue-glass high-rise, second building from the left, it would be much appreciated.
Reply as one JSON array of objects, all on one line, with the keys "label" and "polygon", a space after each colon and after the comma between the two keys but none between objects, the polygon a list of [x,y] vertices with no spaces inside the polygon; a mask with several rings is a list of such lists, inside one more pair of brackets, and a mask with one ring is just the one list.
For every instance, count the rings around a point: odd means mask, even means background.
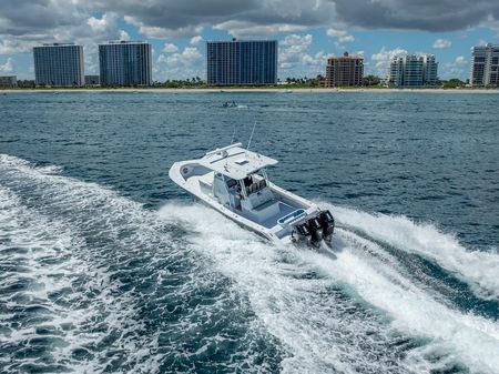
[{"label": "blue-glass high-rise, second building from the left", "polygon": [[151,85],[151,44],[110,41],[99,46],[101,85]]}]

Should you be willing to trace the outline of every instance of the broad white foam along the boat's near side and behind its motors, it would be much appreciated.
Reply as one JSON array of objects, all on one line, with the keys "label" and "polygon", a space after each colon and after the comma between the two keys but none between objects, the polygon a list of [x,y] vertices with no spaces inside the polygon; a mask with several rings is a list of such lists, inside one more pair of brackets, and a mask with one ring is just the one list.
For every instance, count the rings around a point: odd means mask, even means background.
[{"label": "broad white foam along the boat's near side and behind its motors", "polygon": [[[499,367],[497,322],[450,309],[401,274],[394,259],[387,262],[389,255],[369,256],[366,247],[381,249],[355,233],[338,230],[342,251],[332,260],[259,242],[202,206],[169,204],[160,214],[200,232],[198,251],[237,281],[268,330],[289,347],[293,356],[284,362],[289,372],[430,373],[466,365],[471,373],[495,373]],[[335,287],[352,299],[345,302],[332,292]],[[374,310],[359,312],[356,303]],[[357,315],[345,317],[348,309]],[[390,322],[383,323],[374,311]],[[376,343],[367,343],[369,332]],[[415,340],[404,354],[395,347],[401,336]],[[418,346],[418,340],[426,343]],[[388,357],[379,360],[378,350]]]}]

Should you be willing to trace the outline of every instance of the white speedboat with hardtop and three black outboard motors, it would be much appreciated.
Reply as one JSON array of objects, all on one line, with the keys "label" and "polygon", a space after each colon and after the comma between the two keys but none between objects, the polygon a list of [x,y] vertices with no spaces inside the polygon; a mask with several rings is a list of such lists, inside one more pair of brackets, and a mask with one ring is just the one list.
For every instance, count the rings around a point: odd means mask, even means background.
[{"label": "white speedboat with hardtop and three black outboard motors", "polygon": [[169,175],[205,204],[271,241],[330,245],[333,215],[272,183],[266,168],[276,163],[236,143],[175,162]]}]

